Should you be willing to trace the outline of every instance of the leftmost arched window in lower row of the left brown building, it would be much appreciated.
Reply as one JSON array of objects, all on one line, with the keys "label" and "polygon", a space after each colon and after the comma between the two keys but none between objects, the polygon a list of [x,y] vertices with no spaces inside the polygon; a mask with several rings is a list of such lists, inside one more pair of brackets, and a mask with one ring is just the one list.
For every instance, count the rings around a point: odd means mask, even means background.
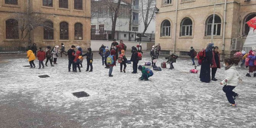
[{"label": "leftmost arched window in lower row of the left brown building", "polygon": [[6,39],[19,39],[19,24],[15,19],[5,21]]}]

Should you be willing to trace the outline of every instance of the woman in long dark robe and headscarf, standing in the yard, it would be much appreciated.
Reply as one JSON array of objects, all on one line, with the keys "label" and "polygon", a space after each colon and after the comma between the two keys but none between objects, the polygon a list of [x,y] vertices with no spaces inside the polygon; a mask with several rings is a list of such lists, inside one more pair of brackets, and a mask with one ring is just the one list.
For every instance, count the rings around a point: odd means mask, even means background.
[{"label": "woman in long dark robe and headscarf, standing in the yard", "polygon": [[211,81],[211,65],[212,65],[212,49],[214,44],[209,43],[206,47],[205,54],[206,56],[203,58],[201,71],[200,71],[200,81],[204,83],[209,83]]}]

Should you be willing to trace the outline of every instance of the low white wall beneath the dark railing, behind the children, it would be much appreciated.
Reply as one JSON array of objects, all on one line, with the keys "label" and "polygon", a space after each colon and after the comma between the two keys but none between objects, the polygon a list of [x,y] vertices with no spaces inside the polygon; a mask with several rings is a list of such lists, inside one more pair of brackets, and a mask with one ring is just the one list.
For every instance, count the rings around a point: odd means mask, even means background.
[{"label": "low white wall beneath the dark railing, behind the children", "polygon": [[[91,49],[92,49],[92,51],[99,51],[99,48],[102,44],[104,44],[105,46],[108,46],[110,48],[112,42],[113,41],[94,41],[94,40],[92,40],[91,41]],[[117,42],[119,44],[119,41],[117,41]],[[131,47],[133,47],[133,46],[136,47],[136,45],[138,44],[138,42],[129,42],[129,41],[124,41],[123,43],[127,46],[128,51],[131,50]],[[142,42],[141,46],[142,46],[143,51],[147,50],[147,43]]]}]

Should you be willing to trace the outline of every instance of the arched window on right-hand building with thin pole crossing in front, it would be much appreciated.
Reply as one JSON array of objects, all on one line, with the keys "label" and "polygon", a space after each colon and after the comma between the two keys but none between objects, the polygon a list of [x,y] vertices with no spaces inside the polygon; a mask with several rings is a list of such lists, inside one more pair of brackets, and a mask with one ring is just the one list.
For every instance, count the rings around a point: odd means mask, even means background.
[{"label": "arched window on right-hand building with thin pole crossing in front", "polygon": [[[205,36],[212,35],[212,20],[213,20],[213,15],[209,16],[206,19]],[[221,29],[221,19],[218,15],[215,15],[214,16],[214,26],[213,26],[213,35],[220,36],[220,29]]]}]

